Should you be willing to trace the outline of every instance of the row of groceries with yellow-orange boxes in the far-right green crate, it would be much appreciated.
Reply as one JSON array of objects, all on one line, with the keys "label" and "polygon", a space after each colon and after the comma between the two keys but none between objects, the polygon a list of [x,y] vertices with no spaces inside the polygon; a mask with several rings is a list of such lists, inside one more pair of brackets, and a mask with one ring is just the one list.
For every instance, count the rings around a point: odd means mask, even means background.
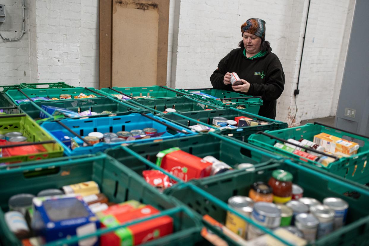
[{"label": "row of groceries with yellow-orange boxes in the far-right green crate", "polygon": [[[358,143],[351,142],[324,132],[315,135],[313,141],[303,139],[302,137],[299,140],[290,138],[287,139],[287,141],[299,145],[300,147],[292,145],[288,142],[284,144],[277,142],[274,147],[301,157],[305,157],[308,160],[318,162],[325,167],[334,162],[336,159],[330,156],[325,156],[322,153],[335,156],[336,158],[350,157],[351,155],[358,153],[358,149],[360,147]],[[313,152],[306,148],[311,148],[322,153]]]}]

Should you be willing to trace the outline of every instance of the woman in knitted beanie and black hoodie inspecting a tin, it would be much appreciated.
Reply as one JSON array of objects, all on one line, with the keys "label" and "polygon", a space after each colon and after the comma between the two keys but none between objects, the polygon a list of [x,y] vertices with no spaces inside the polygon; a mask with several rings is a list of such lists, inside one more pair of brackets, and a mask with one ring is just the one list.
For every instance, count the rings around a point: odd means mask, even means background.
[{"label": "woman in knitted beanie and black hoodie inspecting a tin", "polygon": [[[284,89],[284,73],[278,57],[265,40],[265,21],[248,19],[241,25],[242,41],[220,60],[217,70],[210,76],[215,89],[237,91],[249,96],[261,96],[263,105],[259,115],[276,117],[277,98]],[[231,73],[240,77],[242,85],[231,85]]]}]

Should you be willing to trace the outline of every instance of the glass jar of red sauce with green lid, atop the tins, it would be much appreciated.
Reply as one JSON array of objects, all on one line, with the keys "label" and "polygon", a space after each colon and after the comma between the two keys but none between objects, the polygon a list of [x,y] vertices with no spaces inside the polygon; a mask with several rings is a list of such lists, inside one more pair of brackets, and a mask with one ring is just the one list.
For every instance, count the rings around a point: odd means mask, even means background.
[{"label": "glass jar of red sauce with green lid, atop the tins", "polygon": [[286,203],[292,199],[292,180],[290,172],[282,169],[274,170],[268,184],[273,189],[273,201]]}]

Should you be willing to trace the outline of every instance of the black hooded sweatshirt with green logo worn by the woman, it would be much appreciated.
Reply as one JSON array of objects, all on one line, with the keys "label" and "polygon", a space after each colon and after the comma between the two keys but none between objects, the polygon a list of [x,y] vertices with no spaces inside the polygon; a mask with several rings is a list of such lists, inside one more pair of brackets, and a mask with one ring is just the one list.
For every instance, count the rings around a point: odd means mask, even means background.
[{"label": "black hooded sweatshirt with green logo worn by the woman", "polygon": [[265,56],[254,59],[247,59],[243,54],[243,49],[232,50],[228,55],[220,60],[218,68],[210,76],[210,82],[215,89],[234,91],[230,84],[223,83],[224,75],[227,72],[236,72],[240,79],[250,83],[248,92],[241,94],[263,99],[259,115],[271,119],[276,118],[277,98],[284,89],[284,72],[278,57],[268,50]]}]

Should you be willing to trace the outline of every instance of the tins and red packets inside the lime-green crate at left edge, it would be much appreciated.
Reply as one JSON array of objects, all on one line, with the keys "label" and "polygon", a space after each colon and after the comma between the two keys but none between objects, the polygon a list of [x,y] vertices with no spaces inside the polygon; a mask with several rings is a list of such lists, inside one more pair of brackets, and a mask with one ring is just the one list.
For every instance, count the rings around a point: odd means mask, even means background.
[{"label": "tins and red packets inside the lime-green crate at left edge", "polygon": [[30,143],[26,136],[21,132],[8,132],[5,135],[0,134],[0,157],[10,157],[19,155],[36,154],[46,152],[46,149],[41,144],[16,146],[10,148],[1,148],[4,145],[15,145]]}]

